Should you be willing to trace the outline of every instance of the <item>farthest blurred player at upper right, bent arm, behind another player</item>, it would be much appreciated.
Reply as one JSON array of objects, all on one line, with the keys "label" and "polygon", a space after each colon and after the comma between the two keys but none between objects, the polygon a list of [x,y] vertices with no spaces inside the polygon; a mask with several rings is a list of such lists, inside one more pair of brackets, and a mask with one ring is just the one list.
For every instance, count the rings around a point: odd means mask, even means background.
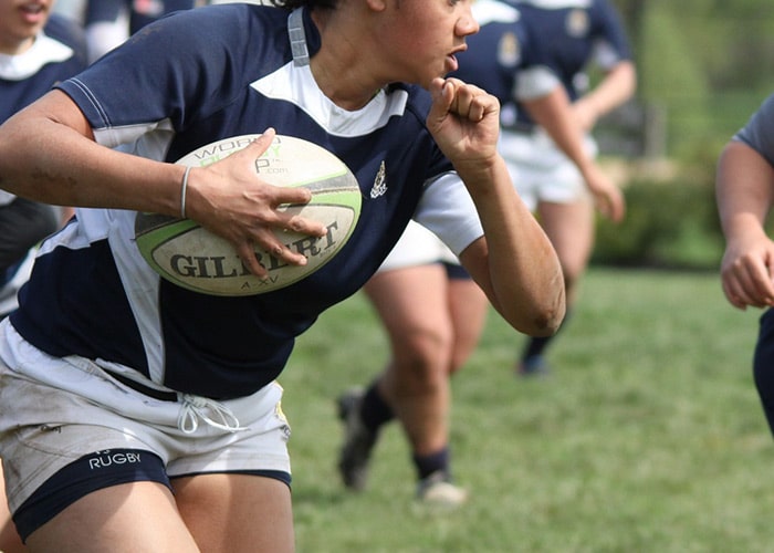
[{"label": "farthest blurred player at upper right, bent arm, behind another player", "polygon": [[[637,76],[628,39],[613,6],[607,0],[509,0],[531,21],[543,41],[544,54],[557,72],[580,126],[586,131],[588,154],[596,156],[590,135],[597,121],[635,94]],[[588,87],[589,65],[603,76]],[[509,112],[511,121],[506,121]],[[568,316],[577,302],[580,278],[594,248],[594,204],[613,220],[624,216],[624,198],[618,188],[584,186],[577,168],[519,104],[503,109],[500,152],[505,157],[519,194],[536,211],[562,262],[567,293]],[[527,341],[516,364],[521,375],[547,372],[545,348],[552,337]]]}]

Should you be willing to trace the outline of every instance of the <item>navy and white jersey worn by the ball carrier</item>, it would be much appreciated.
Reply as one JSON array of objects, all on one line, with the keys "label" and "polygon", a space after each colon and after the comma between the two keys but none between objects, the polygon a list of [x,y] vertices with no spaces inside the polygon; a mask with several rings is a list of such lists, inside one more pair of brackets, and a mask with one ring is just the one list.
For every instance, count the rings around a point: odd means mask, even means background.
[{"label": "navy and white jersey worn by the ball carrier", "polygon": [[308,66],[320,49],[315,25],[304,10],[289,13],[241,3],[181,11],[60,87],[98,143],[153,159],[174,161],[269,126],[327,148],[363,192],[347,244],[289,288],[210,296],[153,272],[134,243],[135,212],[79,209],[42,244],[20,293],[11,321],[25,340],[54,356],[130,367],[179,392],[245,396],[280,374],[294,338],[323,310],[368,280],[412,217],[456,253],[482,234],[464,185],[426,128],[429,94],[396,84],[357,112],[337,107]]}]

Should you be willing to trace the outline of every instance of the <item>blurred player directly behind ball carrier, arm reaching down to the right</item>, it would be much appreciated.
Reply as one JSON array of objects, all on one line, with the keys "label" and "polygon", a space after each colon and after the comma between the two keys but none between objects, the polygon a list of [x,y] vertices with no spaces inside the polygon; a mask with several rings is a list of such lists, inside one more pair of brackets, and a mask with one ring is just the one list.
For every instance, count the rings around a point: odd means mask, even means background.
[{"label": "blurred player directly behind ball carrier, arm reaching down to the right", "polygon": [[[542,53],[544,38],[500,1],[480,0],[473,14],[481,30],[468,39],[454,75],[498,96],[511,114],[517,98],[577,164],[589,188],[605,199],[613,196],[607,206],[617,217],[617,189],[584,148],[583,128]],[[449,377],[478,343],[487,300],[454,255],[416,223],[364,290],[387,331],[390,359],[365,392],[355,388],[338,399],[345,422],[342,479],[351,489],[365,487],[380,428],[398,418],[411,448],[418,499],[432,507],[462,504],[467,492],[452,483],[450,469]]]}]

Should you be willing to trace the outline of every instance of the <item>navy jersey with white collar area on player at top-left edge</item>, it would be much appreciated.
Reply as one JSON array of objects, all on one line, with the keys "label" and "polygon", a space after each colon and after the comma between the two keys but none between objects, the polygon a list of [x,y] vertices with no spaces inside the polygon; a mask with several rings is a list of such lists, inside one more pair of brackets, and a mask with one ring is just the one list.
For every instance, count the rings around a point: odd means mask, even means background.
[{"label": "navy jersey with white collar area on player at top-left edge", "polygon": [[83,31],[53,14],[34,44],[19,55],[0,54],[0,123],[86,66]]}]

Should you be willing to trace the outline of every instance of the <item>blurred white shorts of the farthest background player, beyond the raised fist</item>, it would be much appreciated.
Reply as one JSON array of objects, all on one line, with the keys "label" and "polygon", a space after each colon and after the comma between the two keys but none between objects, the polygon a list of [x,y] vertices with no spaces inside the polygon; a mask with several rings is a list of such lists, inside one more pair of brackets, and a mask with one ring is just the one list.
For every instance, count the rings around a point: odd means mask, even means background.
[{"label": "blurred white shorts of the farthest background player, beyond the raised fist", "polygon": [[[597,155],[596,142],[586,136],[585,147]],[[500,133],[499,149],[524,204],[534,211],[541,201],[574,204],[588,198],[586,182],[575,164],[556,147],[543,129]]]}]

